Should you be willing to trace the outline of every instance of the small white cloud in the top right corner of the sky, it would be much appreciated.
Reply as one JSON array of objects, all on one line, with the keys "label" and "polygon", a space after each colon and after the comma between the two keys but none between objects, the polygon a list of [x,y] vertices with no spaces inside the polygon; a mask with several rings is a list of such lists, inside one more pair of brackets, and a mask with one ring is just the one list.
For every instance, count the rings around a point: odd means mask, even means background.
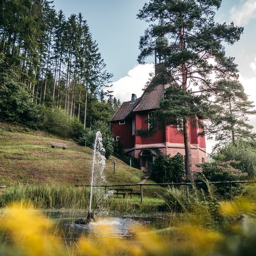
[{"label": "small white cloud in the top right corner of the sky", "polygon": [[256,1],[247,0],[242,6],[236,5],[230,10],[231,20],[237,26],[246,25],[249,20],[256,19]]}]

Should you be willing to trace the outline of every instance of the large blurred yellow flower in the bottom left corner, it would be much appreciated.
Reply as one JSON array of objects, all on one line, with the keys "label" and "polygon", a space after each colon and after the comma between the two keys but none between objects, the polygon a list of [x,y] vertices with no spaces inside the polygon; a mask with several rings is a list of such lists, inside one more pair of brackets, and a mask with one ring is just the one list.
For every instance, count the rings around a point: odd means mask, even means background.
[{"label": "large blurred yellow flower in the bottom left corner", "polygon": [[0,228],[25,255],[66,255],[60,238],[53,235],[53,223],[31,206],[13,204],[6,207]]}]

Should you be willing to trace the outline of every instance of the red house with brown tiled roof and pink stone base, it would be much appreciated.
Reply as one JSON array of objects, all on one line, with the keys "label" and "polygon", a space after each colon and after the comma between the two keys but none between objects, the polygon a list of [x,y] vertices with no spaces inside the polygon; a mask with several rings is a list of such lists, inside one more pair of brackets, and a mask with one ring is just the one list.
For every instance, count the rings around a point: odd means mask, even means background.
[{"label": "red house with brown tiled roof and pink stone base", "polygon": [[[125,153],[138,158],[141,170],[145,172],[150,172],[151,163],[159,151],[171,156],[178,153],[185,155],[183,135],[173,126],[157,129],[156,133],[148,138],[141,138],[136,134],[136,130],[150,129],[151,119],[154,118],[152,111],[159,108],[159,102],[164,97],[165,87],[158,85],[154,90],[145,91],[138,99],[135,94],[132,94],[131,101],[123,102],[110,120],[114,140],[122,141]],[[199,136],[199,132],[202,132],[202,128],[191,121],[190,140],[193,171],[199,171],[196,164],[206,161],[205,137]]]}]

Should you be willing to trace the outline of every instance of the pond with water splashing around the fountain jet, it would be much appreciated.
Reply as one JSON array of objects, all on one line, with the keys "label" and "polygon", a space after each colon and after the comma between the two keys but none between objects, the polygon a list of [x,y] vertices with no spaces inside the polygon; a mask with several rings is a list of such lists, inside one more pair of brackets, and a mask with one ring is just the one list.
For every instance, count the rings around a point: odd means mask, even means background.
[{"label": "pond with water splashing around the fountain jet", "polygon": [[95,222],[89,225],[75,224],[75,220],[85,218],[84,210],[45,210],[44,213],[54,220],[65,241],[76,241],[82,235],[90,238],[104,235],[102,226],[109,229],[111,237],[129,239],[133,237],[134,225],[143,225],[150,229],[161,229],[168,226],[166,213],[128,214],[120,212],[95,212]]}]

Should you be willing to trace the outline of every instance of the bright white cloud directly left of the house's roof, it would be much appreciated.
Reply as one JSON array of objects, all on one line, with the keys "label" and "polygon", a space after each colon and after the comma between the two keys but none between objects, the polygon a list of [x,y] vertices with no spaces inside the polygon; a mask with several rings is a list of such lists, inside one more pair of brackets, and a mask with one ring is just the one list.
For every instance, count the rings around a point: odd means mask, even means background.
[{"label": "bright white cloud directly left of the house's roof", "polygon": [[128,71],[128,75],[113,83],[111,90],[121,102],[131,100],[132,93],[137,97],[142,94],[142,89],[149,81],[149,74],[154,72],[154,64],[137,65]]}]

